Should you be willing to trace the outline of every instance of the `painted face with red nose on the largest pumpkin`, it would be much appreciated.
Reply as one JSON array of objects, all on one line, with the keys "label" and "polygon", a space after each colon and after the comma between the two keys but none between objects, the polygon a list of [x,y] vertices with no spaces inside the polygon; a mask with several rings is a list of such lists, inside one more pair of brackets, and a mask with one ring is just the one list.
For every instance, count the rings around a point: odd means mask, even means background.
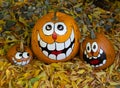
[{"label": "painted face with red nose on the largest pumpkin", "polygon": [[[46,37],[51,37],[53,42],[47,42],[45,41],[45,37],[41,37],[40,33],[38,33],[38,44],[42,51],[42,53],[53,60],[62,60],[68,57],[73,48],[75,43],[75,37],[74,37],[74,31],[69,30],[68,32],[66,25],[63,22],[57,22],[52,23],[48,22],[46,23],[42,28],[42,34]],[[69,34],[70,33],[70,34]],[[68,39],[66,40],[63,38],[62,41],[57,40],[61,36],[66,36],[69,34]]]}]

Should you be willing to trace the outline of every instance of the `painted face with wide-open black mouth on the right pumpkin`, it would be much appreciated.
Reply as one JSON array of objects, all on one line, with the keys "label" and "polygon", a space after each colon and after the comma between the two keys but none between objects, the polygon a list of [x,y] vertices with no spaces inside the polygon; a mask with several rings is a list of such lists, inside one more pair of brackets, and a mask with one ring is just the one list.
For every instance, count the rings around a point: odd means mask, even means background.
[{"label": "painted face with wide-open black mouth on the right pumpkin", "polygon": [[86,44],[83,58],[92,67],[100,67],[106,64],[106,54],[103,49],[98,46],[97,42],[88,42]]}]

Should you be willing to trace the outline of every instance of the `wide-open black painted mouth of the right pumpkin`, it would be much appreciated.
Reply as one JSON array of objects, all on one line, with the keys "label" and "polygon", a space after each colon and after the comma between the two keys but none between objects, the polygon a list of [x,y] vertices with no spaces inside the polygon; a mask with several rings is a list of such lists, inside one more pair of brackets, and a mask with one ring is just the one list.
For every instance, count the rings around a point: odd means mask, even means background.
[{"label": "wide-open black painted mouth of the right pumpkin", "polygon": [[100,67],[106,63],[106,54],[104,53],[102,49],[100,49],[100,52],[97,57],[94,57],[94,56],[89,57],[85,51],[83,53],[83,58],[92,67]]}]

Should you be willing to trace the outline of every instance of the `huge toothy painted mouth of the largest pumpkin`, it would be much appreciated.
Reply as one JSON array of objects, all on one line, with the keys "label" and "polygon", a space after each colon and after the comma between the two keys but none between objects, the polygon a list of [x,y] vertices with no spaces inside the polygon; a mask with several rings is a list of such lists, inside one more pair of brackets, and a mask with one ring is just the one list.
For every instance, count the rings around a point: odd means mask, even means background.
[{"label": "huge toothy painted mouth of the largest pumpkin", "polygon": [[75,42],[75,37],[74,37],[74,32],[72,30],[72,33],[67,41],[64,43],[58,43],[54,42],[52,44],[48,44],[44,42],[41,38],[40,35],[38,34],[38,44],[43,52],[43,54],[50,59],[54,60],[62,60],[66,57],[68,57],[74,47],[74,42]]}]

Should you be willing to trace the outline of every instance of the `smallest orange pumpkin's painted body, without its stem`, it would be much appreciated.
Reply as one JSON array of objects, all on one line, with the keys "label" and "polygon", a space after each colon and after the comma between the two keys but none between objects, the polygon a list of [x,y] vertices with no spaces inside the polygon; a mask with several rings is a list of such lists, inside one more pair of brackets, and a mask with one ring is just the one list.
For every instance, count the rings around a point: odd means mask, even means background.
[{"label": "smallest orange pumpkin's painted body, without its stem", "polygon": [[7,52],[7,59],[16,65],[24,66],[33,59],[33,54],[29,47],[24,46],[24,51],[20,51],[20,45],[16,44],[12,46]]}]

